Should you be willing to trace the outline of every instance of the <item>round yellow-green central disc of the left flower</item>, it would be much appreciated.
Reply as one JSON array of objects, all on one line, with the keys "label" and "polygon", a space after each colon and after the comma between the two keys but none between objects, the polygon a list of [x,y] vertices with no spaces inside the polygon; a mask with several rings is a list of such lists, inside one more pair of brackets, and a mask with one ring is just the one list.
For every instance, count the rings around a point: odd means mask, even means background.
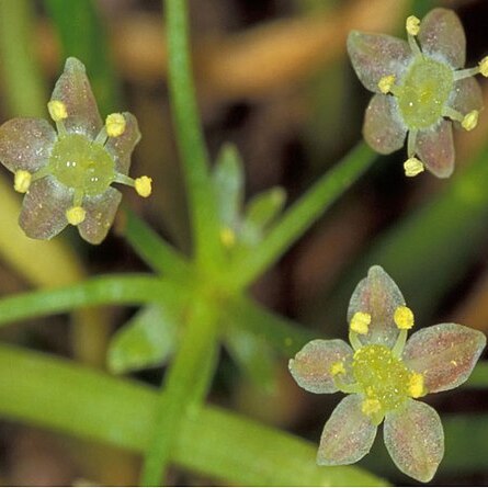
[{"label": "round yellow-green central disc of the left flower", "polygon": [[81,134],[59,139],[49,157],[50,173],[83,195],[100,195],[115,178],[115,163],[105,148]]}]

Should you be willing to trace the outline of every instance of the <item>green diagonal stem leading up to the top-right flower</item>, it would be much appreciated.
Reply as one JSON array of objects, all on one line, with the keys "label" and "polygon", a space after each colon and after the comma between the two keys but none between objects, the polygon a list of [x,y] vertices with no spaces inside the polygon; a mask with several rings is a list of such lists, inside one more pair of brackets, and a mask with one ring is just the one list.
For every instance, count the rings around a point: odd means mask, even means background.
[{"label": "green diagonal stem leading up to the top-right flower", "polygon": [[260,276],[349,189],[376,159],[364,143],[307,191],[271,229],[259,248],[229,271],[232,282],[245,287]]}]

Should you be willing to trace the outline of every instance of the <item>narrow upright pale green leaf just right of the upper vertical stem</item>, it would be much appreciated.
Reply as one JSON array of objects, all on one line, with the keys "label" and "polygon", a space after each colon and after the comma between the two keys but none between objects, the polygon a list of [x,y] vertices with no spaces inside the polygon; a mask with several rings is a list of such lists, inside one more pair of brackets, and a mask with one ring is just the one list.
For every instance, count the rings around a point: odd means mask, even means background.
[{"label": "narrow upright pale green leaf just right of the upper vertical stem", "polygon": [[243,200],[243,168],[240,155],[232,144],[225,144],[212,173],[222,223],[234,228],[239,220]]}]

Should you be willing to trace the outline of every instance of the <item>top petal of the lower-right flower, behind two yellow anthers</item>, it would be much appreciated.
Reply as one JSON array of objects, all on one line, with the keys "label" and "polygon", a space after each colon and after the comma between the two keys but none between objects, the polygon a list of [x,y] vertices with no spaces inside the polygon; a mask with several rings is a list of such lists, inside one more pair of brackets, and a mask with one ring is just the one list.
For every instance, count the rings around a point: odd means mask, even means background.
[{"label": "top petal of the lower-right flower, behind two yellow anthers", "polygon": [[372,266],[367,277],[355,287],[348,308],[348,322],[356,311],[371,315],[370,331],[364,343],[379,343],[393,347],[399,329],[394,322],[397,307],[405,305],[404,295],[382,266]]}]

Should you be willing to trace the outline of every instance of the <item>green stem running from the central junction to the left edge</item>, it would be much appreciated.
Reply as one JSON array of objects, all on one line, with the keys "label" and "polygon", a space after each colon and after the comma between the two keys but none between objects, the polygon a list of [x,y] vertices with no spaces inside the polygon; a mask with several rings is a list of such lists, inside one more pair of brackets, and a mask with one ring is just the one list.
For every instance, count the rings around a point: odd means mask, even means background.
[{"label": "green stem running from the central junction to the left edge", "polygon": [[23,293],[0,300],[0,327],[15,320],[94,305],[140,305],[164,297],[181,300],[184,288],[150,275],[101,276],[57,290]]}]

